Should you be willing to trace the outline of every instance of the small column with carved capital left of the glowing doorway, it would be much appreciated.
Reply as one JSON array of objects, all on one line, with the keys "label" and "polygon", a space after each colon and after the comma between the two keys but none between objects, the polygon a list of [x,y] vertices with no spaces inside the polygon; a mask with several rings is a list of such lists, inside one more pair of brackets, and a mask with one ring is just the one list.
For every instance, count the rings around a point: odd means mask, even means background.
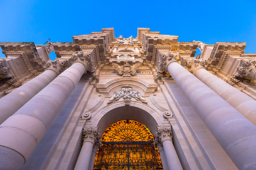
[{"label": "small column with carved capital left of the glowing doorway", "polygon": [[[100,137],[98,128],[86,128],[82,130],[82,149],[75,164],[75,170],[89,170],[92,159],[92,148],[99,145]],[[92,164],[93,165],[93,164]],[[92,166],[93,168],[93,166]]]}]

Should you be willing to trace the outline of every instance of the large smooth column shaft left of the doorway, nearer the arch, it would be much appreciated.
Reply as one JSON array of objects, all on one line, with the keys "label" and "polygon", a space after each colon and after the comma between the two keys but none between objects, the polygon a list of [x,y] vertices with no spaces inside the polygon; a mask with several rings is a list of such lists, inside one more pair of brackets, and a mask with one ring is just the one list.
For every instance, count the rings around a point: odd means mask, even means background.
[{"label": "large smooth column shaft left of the doorway, nearer the arch", "polygon": [[20,169],[87,70],[75,62],[0,125],[0,169]]}]

